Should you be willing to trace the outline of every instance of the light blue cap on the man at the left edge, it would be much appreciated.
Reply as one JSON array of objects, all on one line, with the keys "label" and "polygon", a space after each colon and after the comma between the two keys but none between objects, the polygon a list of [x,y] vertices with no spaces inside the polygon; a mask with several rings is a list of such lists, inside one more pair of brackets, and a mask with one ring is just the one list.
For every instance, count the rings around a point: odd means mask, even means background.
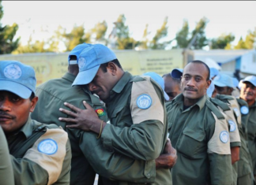
[{"label": "light blue cap on the man at the left edge", "polygon": [[20,61],[0,61],[0,91],[28,99],[36,91],[35,71]]}]

